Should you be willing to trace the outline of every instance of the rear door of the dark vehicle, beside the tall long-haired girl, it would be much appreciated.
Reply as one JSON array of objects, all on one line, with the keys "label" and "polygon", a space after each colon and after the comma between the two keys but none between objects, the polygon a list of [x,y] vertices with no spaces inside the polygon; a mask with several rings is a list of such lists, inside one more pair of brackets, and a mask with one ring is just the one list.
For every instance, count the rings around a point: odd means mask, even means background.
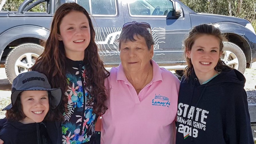
[{"label": "rear door of the dark vehicle, beside the tall long-haired girl", "polygon": [[92,15],[91,20],[95,30],[95,41],[99,48],[99,55],[108,67],[120,63],[118,43],[119,34],[123,26],[123,12],[121,2],[117,0],[78,0]]}]

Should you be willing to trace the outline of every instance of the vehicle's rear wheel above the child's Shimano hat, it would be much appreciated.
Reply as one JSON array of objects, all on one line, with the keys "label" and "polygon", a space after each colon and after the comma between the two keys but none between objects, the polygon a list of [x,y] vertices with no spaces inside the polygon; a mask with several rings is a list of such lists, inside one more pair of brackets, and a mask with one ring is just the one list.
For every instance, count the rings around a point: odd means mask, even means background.
[{"label": "vehicle's rear wheel above the child's Shimano hat", "polygon": [[43,51],[44,47],[33,43],[22,44],[12,50],[5,63],[5,72],[10,83],[17,75],[27,72]]}]

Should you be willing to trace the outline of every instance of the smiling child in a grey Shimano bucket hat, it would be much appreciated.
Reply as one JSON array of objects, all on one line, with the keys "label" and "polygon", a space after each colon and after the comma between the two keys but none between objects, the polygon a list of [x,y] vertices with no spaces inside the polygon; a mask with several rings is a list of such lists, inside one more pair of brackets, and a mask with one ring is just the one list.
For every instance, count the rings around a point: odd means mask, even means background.
[{"label": "smiling child in a grey Shimano bucket hat", "polygon": [[51,88],[42,73],[25,72],[13,80],[11,101],[3,109],[7,110],[7,122],[0,132],[4,143],[50,144],[44,121],[56,120],[61,89]]}]

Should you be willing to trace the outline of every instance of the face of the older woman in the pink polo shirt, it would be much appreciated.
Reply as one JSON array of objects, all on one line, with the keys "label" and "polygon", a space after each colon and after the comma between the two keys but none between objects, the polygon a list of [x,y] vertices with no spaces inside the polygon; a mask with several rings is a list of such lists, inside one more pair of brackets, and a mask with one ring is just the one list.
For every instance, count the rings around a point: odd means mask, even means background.
[{"label": "face of the older woman in the pink polo shirt", "polygon": [[134,36],[136,41],[121,42],[120,58],[126,72],[142,72],[150,66],[153,57],[153,45],[148,50],[146,41],[140,35]]}]

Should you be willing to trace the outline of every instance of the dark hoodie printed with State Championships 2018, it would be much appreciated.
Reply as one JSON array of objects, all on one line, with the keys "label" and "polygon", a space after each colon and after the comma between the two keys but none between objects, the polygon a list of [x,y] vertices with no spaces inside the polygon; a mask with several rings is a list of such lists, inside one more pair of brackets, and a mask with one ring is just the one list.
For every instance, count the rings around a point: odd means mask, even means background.
[{"label": "dark hoodie printed with State Championships 2018", "polygon": [[176,144],[254,144],[245,78],[226,69],[200,85],[183,76],[178,97]]}]

